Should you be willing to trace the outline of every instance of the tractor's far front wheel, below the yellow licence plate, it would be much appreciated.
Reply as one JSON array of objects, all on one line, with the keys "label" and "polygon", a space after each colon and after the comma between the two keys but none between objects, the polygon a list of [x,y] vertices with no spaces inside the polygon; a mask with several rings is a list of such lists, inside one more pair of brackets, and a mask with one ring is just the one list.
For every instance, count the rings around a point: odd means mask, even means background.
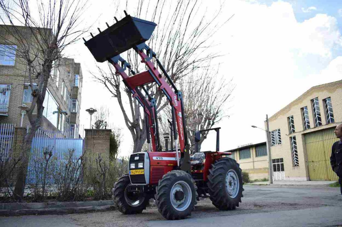
[{"label": "tractor's far front wheel, below the yellow licence plate", "polygon": [[140,214],[146,209],[149,197],[144,193],[129,192],[129,175],[123,175],[112,189],[114,205],[123,214]]}]

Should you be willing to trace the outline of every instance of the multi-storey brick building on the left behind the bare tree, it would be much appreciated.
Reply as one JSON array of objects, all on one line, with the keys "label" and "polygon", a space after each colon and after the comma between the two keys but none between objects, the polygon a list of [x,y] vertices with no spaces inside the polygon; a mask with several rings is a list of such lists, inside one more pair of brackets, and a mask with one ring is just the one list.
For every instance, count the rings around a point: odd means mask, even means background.
[{"label": "multi-storey brick building on the left behind the bare tree", "polygon": [[[32,102],[28,67],[17,50],[22,48],[10,33],[11,26],[0,26],[0,123],[21,124],[18,106]],[[28,41],[34,42],[28,27],[17,26]],[[38,29],[38,28],[37,28]],[[44,99],[42,127],[50,131],[79,135],[79,110],[81,105],[82,70],[74,59],[61,58],[54,62]],[[37,84],[34,84],[37,85]],[[23,126],[29,125],[26,115]]]}]

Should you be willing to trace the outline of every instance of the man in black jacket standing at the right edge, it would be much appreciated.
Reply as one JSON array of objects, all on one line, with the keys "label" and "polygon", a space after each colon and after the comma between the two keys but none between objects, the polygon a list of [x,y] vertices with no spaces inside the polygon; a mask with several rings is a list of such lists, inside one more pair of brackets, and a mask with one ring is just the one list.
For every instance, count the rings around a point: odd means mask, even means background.
[{"label": "man in black jacket standing at the right edge", "polygon": [[332,170],[336,172],[337,176],[339,177],[342,195],[342,124],[336,126],[334,133],[340,140],[334,142],[334,144],[332,145],[330,164]]}]

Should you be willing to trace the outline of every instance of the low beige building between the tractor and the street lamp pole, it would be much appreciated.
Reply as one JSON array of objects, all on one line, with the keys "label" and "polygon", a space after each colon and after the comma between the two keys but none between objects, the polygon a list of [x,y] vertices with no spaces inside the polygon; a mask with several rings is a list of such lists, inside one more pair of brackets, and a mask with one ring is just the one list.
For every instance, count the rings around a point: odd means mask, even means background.
[{"label": "low beige building between the tractor and the street lamp pole", "polygon": [[232,152],[232,155],[228,157],[235,159],[242,171],[249,173],[251,180],[268,179],[266,142],[243,145],[229,152]]}]

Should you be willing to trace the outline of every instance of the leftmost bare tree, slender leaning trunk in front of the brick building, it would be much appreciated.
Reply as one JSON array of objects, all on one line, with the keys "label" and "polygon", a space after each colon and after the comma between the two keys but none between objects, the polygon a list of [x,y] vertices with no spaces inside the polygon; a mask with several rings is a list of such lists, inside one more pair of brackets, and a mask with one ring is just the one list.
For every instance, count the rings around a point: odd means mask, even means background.
[{"label": "leftmost bare tree, slender leaning trunk in front of the brick building", "polygon": [[[74,0],[37,0],[35,3],[29,0],[0,0],[3,11],[0,19],[5,24],[1,28],[6,31],[1,39],[17,47],[16,58],[26,66],[25,76],[33,96],[27,110],[31,127],[25,137],[22,163],[14,190],[18,198],[24,193],[31,142],[41,125],[51,69],[57,67],[64,49],[85,32],[78,29],[85,5],[83,1]],[[34,114],[35,109],[37,114]]]}]

